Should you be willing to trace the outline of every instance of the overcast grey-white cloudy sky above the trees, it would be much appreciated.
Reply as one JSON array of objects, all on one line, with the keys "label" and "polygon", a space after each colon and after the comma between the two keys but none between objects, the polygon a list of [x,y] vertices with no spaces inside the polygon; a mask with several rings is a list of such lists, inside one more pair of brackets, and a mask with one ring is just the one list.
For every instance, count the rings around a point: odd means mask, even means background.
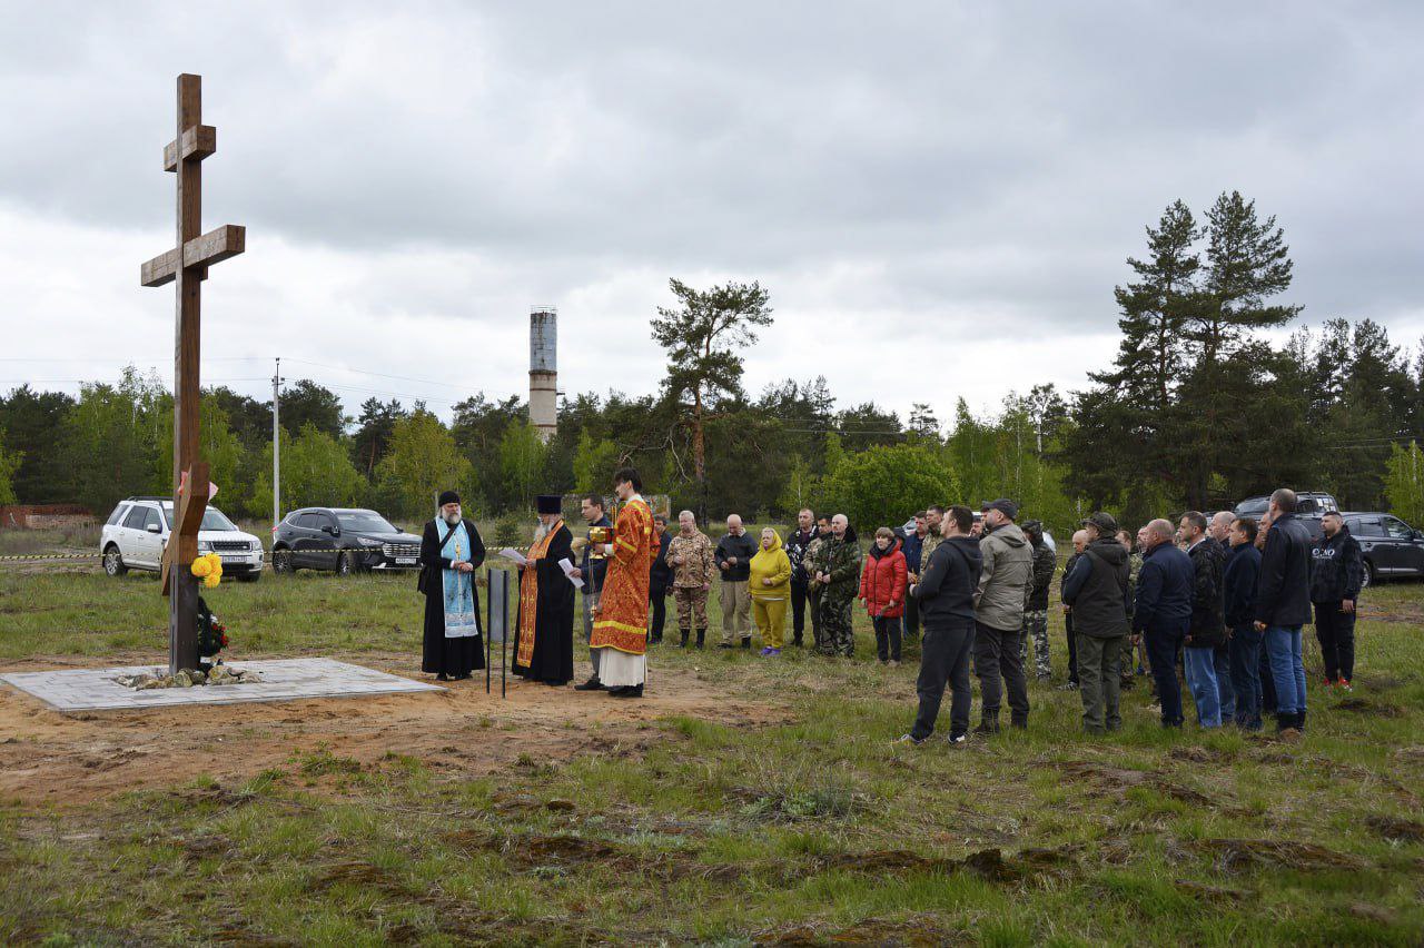
[{"label": "overcast grey-white cloudy sky above the trees", "polygon": [[[1274,214],[1302,325],[1424,333],[1424,4],[0,1],[0,390],[171,381],[175,75],[204,77],[204,381],[450,403],[664,374],[668,278],[760,280],[748,389],[947,420],[1116,349],[1143,226]],[[300,360],[300,362],[298,362]],[[397,376],[397,377],[390,377]],[[439,380],[443,384],[433,384]]]}]

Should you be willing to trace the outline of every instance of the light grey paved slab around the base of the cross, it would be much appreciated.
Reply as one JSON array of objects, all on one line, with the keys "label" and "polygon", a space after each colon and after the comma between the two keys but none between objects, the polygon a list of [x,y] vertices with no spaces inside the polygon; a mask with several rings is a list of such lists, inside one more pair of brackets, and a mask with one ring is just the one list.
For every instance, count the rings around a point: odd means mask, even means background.
[{"label": "light grey paved slab around the base of the cross", "polygon": [[416,682],[328,658],[232,662],[232,668],[251,669],[262,676],[262,680],[251,685],[157,688],[135,692],[114,679],[120,675],[142,672],[150,675],[168,673],[167,668],[135,665],[63,672],[11,672],[0,675],[0,682],[38,697],[54,710],[64,713],[444,690],[439,685]]}]

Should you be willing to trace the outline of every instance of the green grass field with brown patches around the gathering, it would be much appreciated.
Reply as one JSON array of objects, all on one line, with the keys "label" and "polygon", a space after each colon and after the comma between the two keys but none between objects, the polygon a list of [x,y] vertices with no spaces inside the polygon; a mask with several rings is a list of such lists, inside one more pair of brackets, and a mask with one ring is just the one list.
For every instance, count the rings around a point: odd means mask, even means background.
[{"label": "green grass field with brown patches around the gathering", "polygon": [[[206,595],[238,658],[419,653],[410,576]],[[1165,733],[1145,686],[1122,733],[1089,740],[1075,693],[1032,685],[1027,733],[891,746],[914,662],[880,668],[863,615],[853,660],[662,645],[649,695],[695,682],[770,723],[669,715],[632,740],[551,692],[577,750],[493,774],[397,739],[376,760],[293,743],[242,779],[4,800],[0,942],[1418,945],[1421,619],[1424,588],[1368,591],[1358,688],[1324,695],[1313,672],[1297,743]],[[0,572],[0,668],[164,643],[151,578]],[[1054,645],[1061,680],[1057,618]],[[494,707],[468,733],[517,744]],[[145,737],[115,726],[107,753],[125,740]]]}]

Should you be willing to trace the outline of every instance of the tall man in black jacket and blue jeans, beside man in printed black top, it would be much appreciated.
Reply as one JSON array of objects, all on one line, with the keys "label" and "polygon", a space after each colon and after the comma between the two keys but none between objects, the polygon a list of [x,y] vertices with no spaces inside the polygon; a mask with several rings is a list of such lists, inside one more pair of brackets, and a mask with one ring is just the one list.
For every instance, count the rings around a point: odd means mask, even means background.
[{"label": "tall man in black jacket and blue jeans, beside man in printed black top", "polygon": [[1266,635],[1270,676],[1276,682],[1276,730],[1306,727],[1306,666],[1300,626],[1310,622],[1310,528],[1296,517],[1296,493],[1270,495],[1270,532],[1256,584],[1256,631]]}]

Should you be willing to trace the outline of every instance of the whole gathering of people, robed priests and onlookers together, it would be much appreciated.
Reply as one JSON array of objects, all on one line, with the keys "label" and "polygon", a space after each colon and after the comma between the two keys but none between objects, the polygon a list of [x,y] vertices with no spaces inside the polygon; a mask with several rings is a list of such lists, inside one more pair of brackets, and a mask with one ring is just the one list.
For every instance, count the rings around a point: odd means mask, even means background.
[{"label": "whole gathering of people, robed priests and onlookers together", "polygon": [[[678,646],[701,649],[716,584],[722,649],[750,649],[759,633],[760,655],[770,659],[803,646],[809,623],[816,652],[852,656],[857,601],[881,663],[897,666],[906,643],[917,642],[918,715],[903,742],[934,733],[946,689],[950,742],[968,739],[971,672],[980,686],[974,733],[997,733],[1005,703],[1010,726],[1028,726],[1030,649],[1038,680],[1052,679],[1048,609],[1058,561],[1042,524],[1020,524],[1014,501],[987,502],[980,517],[963,505],[933,505],[900,528],[877,528],[862,555],[844,514],[803,510],[785,537],[766,528],[756,538],[732,514],[713,544],[691,511],[669,531],[639,495],[632,468],[614,480],[622,501],[617,521],[602,495],[588,494],[584,537],[562,522],[560,497],[538,498],[540,528],[518,567],[517,675],[551,686],[572,680],[581,589],[592,675],[575,688],[639,697],[646,646],[664,638],[666,596],[676,606]],[[467,576],[484,547],[459,497],[440,501],[422,544],[423,668],[461,679],[483,668],[478,594]],[[1188,511],[1176,525],[1153,520],[1135,538],[1108,512],[1081,522],[1059,601],[1068,642],[1062,688],[1079,692],[1085,732],[1121,727],[1121,693],[1141,675],[1151,675],[1165,727],[1183,725],[1185,679],[1202,727],[1259,730],[1274,715],[1277,730],[1303,732],[1302,629],[1310,622],[1326,685],[1351,688],[1360,545],[1339,514],[1326,515],[1313,541],[1294,511],[1294,493],[1282,488],[1260,522]]]}]

